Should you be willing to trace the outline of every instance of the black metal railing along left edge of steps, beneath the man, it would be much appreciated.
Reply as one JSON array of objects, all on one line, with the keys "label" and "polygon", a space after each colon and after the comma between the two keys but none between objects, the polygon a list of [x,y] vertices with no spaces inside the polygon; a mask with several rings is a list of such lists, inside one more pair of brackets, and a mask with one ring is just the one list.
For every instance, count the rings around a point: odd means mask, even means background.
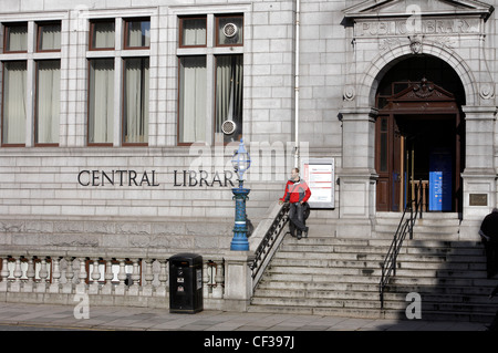
[{"label": "black metal railing along left edge of steps, beneath the man", "polygon": [[283,239],[286,233],[282,236],[282,230],[288,221],[289,204],[284,203],[255,251],[255,259],[250,264],[250,269],[252,271],[252,288],[256,288],[266,266],[271,260],[271,256],[274,253],[273,248],[276,248],[276,245],[280,243]]}]

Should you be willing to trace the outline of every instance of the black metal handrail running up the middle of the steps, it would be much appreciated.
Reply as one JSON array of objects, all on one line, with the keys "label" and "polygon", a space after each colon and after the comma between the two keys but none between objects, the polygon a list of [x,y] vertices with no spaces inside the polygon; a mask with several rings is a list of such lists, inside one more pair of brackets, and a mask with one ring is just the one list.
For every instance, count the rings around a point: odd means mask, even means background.
[{"label": "black metal handrail running up the middle of the steps", "polygon": [[[382,274],[381,282],[378,284],[380,295],[381,295],[381,309],[384,308],[384,290],[387,285],[391,276],[396,276],[396,260],[400,253],[403,241],[406,235],[409,233],[409,239],[413,239],[413,226],[417,219],[418,214],[422,218],[422,179],[418,181],[418,187],[415,193],[415,199],[406,203],[405,209],[403,210],[403,216],[397,226],[396,232],[394,233],[393,241],[391,242],[390,250],[384,258],[384,262],[381,263]],[[415,208],[415,210],[414,210]],[[409,210],[409,218],[405,219],[407,211]]]}]

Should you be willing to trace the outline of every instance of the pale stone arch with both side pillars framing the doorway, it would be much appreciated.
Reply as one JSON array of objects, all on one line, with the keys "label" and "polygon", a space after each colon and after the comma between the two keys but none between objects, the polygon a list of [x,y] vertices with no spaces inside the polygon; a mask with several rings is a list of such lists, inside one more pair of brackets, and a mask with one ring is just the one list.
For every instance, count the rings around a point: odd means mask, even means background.
[{"label": "pale stone arch with both side pillars framing the doorway", "polygon": [[[497,112],[490,74],[489,72],[476,74],[465,60],[449,50],[425,44],[424,53],[432,53],[445,60],[461,80],[466,101],[461,110],[466,122],[467,160],[461,174],[461,218],[480,219],[496,205],[497,175],[492,132]],[[384,74],[408,55],[416,55],[408,45],[401,45],[377,55],[359,80],[357,89],[353,89],[353,93],[350,92],[345,97],[346,102],[340,112],[343,123],[343,168],[338,174],[341,178],[342,218],[375,217],[378,177],[374,166],[375,121],[378,114],[374,103],[375,93]],[[479,201],[475,203],[476,199]]]}]

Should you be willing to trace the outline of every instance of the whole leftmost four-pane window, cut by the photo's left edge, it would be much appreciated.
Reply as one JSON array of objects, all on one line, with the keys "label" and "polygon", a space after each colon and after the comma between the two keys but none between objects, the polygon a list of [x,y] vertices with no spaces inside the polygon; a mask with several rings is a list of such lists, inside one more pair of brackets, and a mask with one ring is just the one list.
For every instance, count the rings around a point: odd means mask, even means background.
[{"label": "whole leftmost four-pane window, cut by the photo's left edge", "polygon": [[58,146],[61,20],[3,25],[1,145]]}]

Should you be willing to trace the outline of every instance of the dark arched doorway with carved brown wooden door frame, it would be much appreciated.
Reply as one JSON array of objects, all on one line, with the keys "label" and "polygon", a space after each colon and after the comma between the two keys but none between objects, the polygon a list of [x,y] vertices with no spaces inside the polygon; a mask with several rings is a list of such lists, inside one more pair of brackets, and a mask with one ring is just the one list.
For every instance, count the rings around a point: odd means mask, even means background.
[{"label": "dark arched doorway with carved brown wooden door frame", "polygon": [[430,55],[390,69],[376,92],[377,211],[401,211],[423,180],[426,211],[461,212],[465,92],[456,72]]}]

